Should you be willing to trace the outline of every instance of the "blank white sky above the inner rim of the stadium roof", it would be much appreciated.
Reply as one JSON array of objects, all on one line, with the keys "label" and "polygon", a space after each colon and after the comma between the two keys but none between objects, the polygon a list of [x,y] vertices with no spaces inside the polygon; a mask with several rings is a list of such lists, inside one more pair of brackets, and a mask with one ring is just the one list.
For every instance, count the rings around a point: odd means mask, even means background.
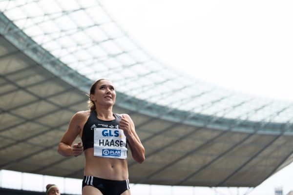
[{"label": "blank white sky above the inner rim of the stadium roof", "polygon": [[293,100],[292,0],[102,0],[156,59],[194,78]]}]

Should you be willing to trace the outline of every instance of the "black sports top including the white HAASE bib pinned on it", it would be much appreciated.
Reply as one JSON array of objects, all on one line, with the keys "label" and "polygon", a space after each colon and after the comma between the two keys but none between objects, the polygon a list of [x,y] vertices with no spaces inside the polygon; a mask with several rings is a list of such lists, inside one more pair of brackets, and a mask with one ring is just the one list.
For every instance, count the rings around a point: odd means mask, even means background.
[{"label": "black sports top including the white HAASE bib pinned on it", "polygon": [[94,156],[108,158],[127,158],[127,139],[119,129],[121,116],[113,113],[114,120],[105,121],[91,111],[84,124],[82,141],[84,150],[94,148]]}]

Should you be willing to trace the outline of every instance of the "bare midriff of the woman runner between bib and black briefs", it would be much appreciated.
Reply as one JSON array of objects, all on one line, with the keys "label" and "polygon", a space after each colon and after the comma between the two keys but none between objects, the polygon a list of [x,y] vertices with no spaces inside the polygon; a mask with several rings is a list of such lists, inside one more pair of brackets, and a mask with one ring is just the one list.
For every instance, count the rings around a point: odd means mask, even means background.
[{"label": "bare midriff of the woman runner between bib and black briefs", "polygon": [[94,156],[94,149],[84,150],[84,176],[94,176],[111,180],[128,179],[127,159]]}]

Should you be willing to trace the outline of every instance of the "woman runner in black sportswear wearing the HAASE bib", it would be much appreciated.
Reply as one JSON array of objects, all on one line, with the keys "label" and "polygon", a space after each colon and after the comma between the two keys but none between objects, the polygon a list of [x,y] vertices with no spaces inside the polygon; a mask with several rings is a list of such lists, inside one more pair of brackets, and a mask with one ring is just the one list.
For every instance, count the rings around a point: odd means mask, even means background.
[{"label": "woman runner in black sportswear wearing the HAASE bib", "polygon": [[[138,163],[145,149],[127,114],[112,112],[116,92],[110,80],[94,82],[89,93],[89,109],[77,112],[59,142],[62,156],[85,156],[83,195],[130,195],[127,149]],[[74,143],[80,136],[82,142]]]}]

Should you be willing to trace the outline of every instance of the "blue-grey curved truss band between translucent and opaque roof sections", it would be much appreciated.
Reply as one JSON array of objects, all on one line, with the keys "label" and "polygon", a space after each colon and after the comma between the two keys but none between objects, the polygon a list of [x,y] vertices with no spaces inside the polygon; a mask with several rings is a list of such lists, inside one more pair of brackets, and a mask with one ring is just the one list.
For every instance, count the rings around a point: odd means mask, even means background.
[{"label": "blue-grey curved truss band between translucent and opaque roof sections", "polygon": [[[62,61],[54,57],[42,46],[29,38],[20,28],[18,28],[3,13],[0,13],[0,33],[3,37],[14,44],[21,52],[35,60],[46,70],[62,78],[72,86],[87,93],[92,80],[71,69]],[[178,109],[168,108],[155,103],[147,102],[124,93],[117,92],[116,104],[119,107],[142,113],[151,117],[158,117],[182,124],[208,127],[212,129],[236,131],[245,133],[260,134],[284,134],[293,135],[292,123],[272,123],[263,121],[249,121],[241,119],[230,119],[222,117],[207,116],[198,113],[190,113]]]}]

